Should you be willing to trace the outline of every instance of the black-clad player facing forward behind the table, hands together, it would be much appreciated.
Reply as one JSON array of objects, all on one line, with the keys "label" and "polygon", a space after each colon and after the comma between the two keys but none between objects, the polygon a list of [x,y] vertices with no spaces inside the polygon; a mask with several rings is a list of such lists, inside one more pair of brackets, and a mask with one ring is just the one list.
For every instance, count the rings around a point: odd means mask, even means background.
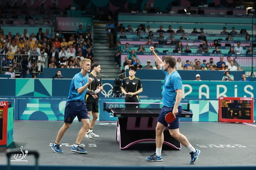
[{"label": "black-clad player facing forward behind the table, hands together", "polygon": [[[139,103],[138,94],[142,92],[142,84],[139,78],[135,77],[137,68],[129,67],[129,77],[123,79],[122,92],[124,95],[131,94],[131,97],[125,97],[125,102]],[[125,104],[125,107],[139,107],[139,104]]]}]

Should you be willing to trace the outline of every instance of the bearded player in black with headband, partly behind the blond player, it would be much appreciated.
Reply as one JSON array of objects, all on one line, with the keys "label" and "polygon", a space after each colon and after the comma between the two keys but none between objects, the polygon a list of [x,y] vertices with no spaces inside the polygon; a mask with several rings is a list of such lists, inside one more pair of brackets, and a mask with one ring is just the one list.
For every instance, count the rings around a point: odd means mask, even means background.
[{"label": "bearded player in black with headband, partly behind the blond player", "polygon": [[[93,79],[93,82],[88,86],[88,89],[95,91],[96,89],[103,90],[101,77],[97,75],[97,73],[100,73],[100,64],[99,63],[93,63],[91,65],[91,68],[93,69],[91,73],[89,73],[89,77]],[[90,128],[85,134],[85,138],[93,138],[93,137],[99,137],[99,135],[96,135],[93,132],[93,127],[95,125],[95,122],[97,118],[99,117],[99,94],[97,95],[87,95],[85,96],[85,103],[86,108],[88,110],[89,118],[91,117],[91,114],[93,114],[93,118],[90,122]]]}]

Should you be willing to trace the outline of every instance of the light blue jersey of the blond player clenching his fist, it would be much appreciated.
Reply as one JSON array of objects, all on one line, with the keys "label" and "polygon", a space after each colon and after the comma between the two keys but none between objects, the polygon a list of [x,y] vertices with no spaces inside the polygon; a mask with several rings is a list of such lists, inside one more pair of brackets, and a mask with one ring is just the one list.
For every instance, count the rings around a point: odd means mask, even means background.
[{"label": "light blue jersey of the blond player clenching his fist", "polygon": [[88,82],[88,78],[89,78],[88,73],[87,73],[86,77],[84,77],[81,72],[75,74],[75,76],[71,80],[70,89],[69,89],[69,97],[68,97],[67,102],[83,101],[84,100],[84,96],[86,94],[87,88],[85,89],[85,92],[83,92],[82,94],[79,94],[77,89],[79,87],[83,87]]}]

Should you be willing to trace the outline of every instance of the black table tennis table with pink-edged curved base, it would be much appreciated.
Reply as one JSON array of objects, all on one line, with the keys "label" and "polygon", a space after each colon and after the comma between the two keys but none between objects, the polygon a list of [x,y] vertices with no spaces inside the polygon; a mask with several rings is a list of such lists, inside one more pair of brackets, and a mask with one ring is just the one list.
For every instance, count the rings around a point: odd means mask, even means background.
[{"label": "black table tennis table with pink-edged curved base", "polygon": [[[108,107],[108,102],[104,102],[103,110],[117,117],[115,140],[119,142],[120,149],[126,149],[140,142],[155,142],[156,124],[161,108],[125,108],[115,104]],[[182,111],[181,117],[192,118],[193,114]],[[175,148],[181,149],[181,143],[174,139],[168,128],[163,132],[163,143]]]}]

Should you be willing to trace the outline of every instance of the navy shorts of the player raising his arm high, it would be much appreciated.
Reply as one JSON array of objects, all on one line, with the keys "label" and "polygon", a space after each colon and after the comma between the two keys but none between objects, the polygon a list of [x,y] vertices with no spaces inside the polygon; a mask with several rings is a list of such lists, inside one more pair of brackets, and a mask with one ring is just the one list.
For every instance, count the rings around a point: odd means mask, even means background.
[{"label": "navy shorts of the player raising his arm high", "polygon": [[165,120],[165,116],[168,113],[172,112],[172,110],[173,107],[163,106],[157,121],[159,123],[162,123],[165,127],[168,126],[168,129],[179,129],[179,119],[182,113],[182,106],[178,106],[178,114],[176,115],[176,119],[174,119],[171,123],[167,123],[167,121]]}]

